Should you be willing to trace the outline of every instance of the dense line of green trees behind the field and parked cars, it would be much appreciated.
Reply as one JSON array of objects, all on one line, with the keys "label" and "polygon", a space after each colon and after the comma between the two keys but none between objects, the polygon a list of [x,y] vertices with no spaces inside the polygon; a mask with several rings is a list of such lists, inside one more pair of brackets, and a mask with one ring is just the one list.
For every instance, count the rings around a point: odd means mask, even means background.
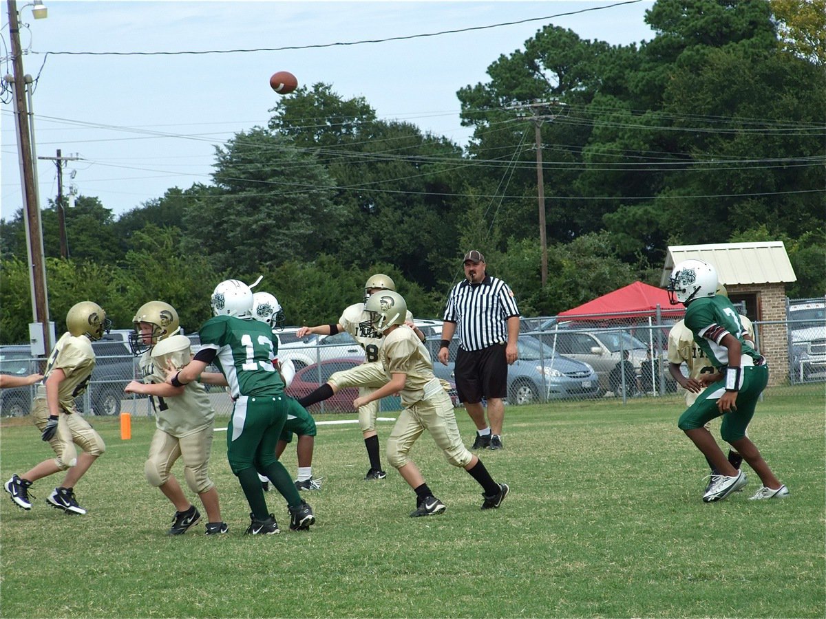
[{"label": "dense line of green trees behind the field and parked cars", "polygon": [[[556,314],[642,280],[667,247],[782,240],[792,297],[826,291],[826,0],[659,0],[639,45],[545,26],[458,90],[468,144],[381,120],[316,83],[268,126],[216,147],[210,183],[172,187],[118,218],[94,196],[42,211],[50,313],[96,300],[131,327],[167,300],[188,331],[218,281],[263,275],[290,324],[337,319],[374,272],[439,317],[469,248],[525,315]],[[822,5],[822,6],[821,6]],[[804,11],[804,8],[806,9]],[[802,16],[802,17],[801,17]],[[542,150],[548,282],[541,286]],[[0,220],[0,341],[31,321],[22,210]]]}]

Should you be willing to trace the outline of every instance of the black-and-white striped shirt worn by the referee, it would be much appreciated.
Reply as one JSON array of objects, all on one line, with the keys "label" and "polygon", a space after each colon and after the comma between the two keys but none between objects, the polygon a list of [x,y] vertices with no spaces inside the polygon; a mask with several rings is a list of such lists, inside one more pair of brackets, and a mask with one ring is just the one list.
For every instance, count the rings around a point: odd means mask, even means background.
[{"label": "black-and-white striped shirt worn by the referee", "polygon": [[489,275],[478,284],[463,280],[453,286],[444,308],[444,320],[458,325],[459,343],[468,351],[506,343],[507,321],[518,315],[510,286]]}]

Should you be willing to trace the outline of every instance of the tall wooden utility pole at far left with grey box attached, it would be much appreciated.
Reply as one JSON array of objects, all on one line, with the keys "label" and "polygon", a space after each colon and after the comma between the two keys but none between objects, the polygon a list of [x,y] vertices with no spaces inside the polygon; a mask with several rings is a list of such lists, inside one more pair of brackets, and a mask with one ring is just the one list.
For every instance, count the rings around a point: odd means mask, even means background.
[{"label": "tall wooden utility pole at far left with grey box attached", "polygon": [[37,203],[31,133],[27,122],[26,78],[25,73],[23,73],[23,52],[20,46],[20,21],[15,0],[8,0],[8,23],[12,43],[12,70],[14,73],[12,78],[14,85],[14,119],[17,128],[17,152],[20,156],[23,196],[26,201],[26,229],[28,232],[26,248],[28,249],[32,317],[34,318],[34,323],[29,325],[29,335],[32,352],[45,356],[51,350],[52,345],[50,341],[49,300],[46,295],[40,205]]}]

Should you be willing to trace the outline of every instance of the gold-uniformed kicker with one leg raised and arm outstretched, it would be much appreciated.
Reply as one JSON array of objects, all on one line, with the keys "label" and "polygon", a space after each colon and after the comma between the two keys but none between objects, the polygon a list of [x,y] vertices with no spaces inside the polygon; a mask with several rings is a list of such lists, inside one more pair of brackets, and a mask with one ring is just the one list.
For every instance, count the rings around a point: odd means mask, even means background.
[{"label": "gold-uniformed kicker with one leg raised and arm outstretched", "polygon": [[[358,395],[365,396],[373,393],[379,387],[387,384],[387,374],[378,361],[378,347],[381,344],[381,337],[373,331],[370,325],[370,314],[365,309],[368,299],[377,291],[395,291],[396,284],[390,277],[383,273],[377,273],[368,278],[364,284],[364,300],[361,303],[349,305],[342,312],[337,324],[320,324],[316,327],[301,327],[296,332],[298,338],[303,338],[308,333],[319,335],[335,335],[340,331],[346,331],[352,335],[358,345],[364,349],[364,363],[351,370],[335,372],[330,376],[324,385],[313,391],[310,395],[298,399],[298,403],[303,407],[316,404],[323,399],[330,398],[340,389],[345,387],[358,387]],[[404,320],[407,324],[413,324],[413,314],[407,312]],[[425,341],[425,334],[419,328],[413,327],[416,337],[421,342]],[[389,394],[388,394],[389,395]],[[370,399],[367,403],[358,408],[358,425],[364,437],[364,447],[367,448],[367,455],[370,461],[370,469],[365,480],[382,480],[387,477],[387,473],[382,470],[382,460],[379,456],[378,434],[376,432],[376,415],[378,413],[378,399]]]}]

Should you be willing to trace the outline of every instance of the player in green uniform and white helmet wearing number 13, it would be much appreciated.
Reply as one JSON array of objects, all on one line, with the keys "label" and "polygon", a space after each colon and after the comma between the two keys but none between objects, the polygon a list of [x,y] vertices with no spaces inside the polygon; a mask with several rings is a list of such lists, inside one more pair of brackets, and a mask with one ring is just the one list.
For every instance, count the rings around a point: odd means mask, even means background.
[{"label": "player in green uniform and white helmet wearing number 13", "polygon": [[197,380],[211,363],[221,371],[234,401],[227,428],[226,456],[249,503],[251,523],[246,533],[278,533],[278,523],[268,513],[258,473],[267,475],[287,500],[290,528],[308,529],[316,522],[312,509],[298,494],[275,447],[287,419],[284,383],[273,366],[277,343],[268,324],[252,316],[253,292],[238,280],[222,281],[211,297],[214,317],[198,332],[201,350],[178,372],[169,372],[169,384],[187,385]]}]

